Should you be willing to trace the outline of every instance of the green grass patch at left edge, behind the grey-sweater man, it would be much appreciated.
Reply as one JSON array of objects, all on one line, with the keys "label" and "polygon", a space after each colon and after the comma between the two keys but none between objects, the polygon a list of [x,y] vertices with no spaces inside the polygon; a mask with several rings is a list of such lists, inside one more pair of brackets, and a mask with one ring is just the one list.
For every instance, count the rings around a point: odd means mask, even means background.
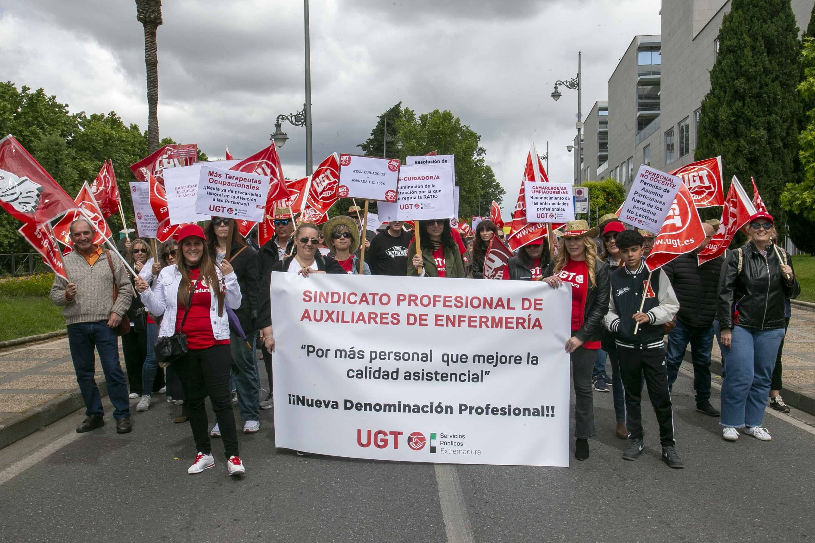
[{"label": "green grass patch at left edge, behind the grey-sweater man", "polygon": [[0,341],[62,330],[65,317],[61,312],[47,296],[0,294]]}]

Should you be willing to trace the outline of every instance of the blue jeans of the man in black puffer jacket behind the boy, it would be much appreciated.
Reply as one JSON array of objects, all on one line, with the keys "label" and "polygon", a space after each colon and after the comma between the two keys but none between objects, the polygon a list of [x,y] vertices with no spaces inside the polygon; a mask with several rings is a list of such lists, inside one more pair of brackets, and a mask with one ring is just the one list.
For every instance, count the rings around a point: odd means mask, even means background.
[{"label": "blue jeans of the man in black puffer jacket behind the boy", "polygon": [[694,363],[694,391],[696,403],[711,399],[711,350],[713,348],[713,326],[698,328],[676,320],[676,327],[667,335],[667,388],[673,390],[679,366],[685,357],[685,348],[690,344],[690,357]]}]

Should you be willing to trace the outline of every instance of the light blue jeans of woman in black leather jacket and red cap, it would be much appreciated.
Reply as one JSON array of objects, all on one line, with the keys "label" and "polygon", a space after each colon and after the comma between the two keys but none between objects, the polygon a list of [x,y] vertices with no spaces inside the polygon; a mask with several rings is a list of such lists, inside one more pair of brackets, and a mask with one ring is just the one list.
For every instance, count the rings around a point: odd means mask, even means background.
[{"label": "light blue jeans of woman in black leather jacket and red cap", "polygon": [[727,357],[727,375],[721,384],[721,425],[760,426],[769,397],[778,346],[784,329],[752,330],[734,326]]}]

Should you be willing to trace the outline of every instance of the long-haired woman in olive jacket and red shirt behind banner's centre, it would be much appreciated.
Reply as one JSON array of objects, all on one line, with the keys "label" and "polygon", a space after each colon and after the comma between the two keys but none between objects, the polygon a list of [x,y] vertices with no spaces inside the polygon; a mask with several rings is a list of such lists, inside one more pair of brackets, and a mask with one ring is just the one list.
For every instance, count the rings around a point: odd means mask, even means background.
[{"label": "long-haired woman in olive jacket and red shirt behind banner's centre", "polygon": [[464,263],[458,244],[452,238],[449,219],[419,221],[421,255],[416,254],[416,243],[407,247],[407,275],[463,278]]}]

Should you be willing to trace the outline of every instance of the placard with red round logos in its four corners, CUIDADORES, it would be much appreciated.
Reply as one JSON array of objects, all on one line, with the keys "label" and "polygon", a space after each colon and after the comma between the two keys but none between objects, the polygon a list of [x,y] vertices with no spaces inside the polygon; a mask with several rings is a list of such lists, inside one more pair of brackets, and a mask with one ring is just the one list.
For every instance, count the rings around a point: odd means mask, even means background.
[{"label": "placard with red round logos in its four corners, CUIDADORES", "polygon": [[[340,198],[395,202],[399,190],[399,160],[340,155]],[[438,218],[438,217],[437,217]]]}]

